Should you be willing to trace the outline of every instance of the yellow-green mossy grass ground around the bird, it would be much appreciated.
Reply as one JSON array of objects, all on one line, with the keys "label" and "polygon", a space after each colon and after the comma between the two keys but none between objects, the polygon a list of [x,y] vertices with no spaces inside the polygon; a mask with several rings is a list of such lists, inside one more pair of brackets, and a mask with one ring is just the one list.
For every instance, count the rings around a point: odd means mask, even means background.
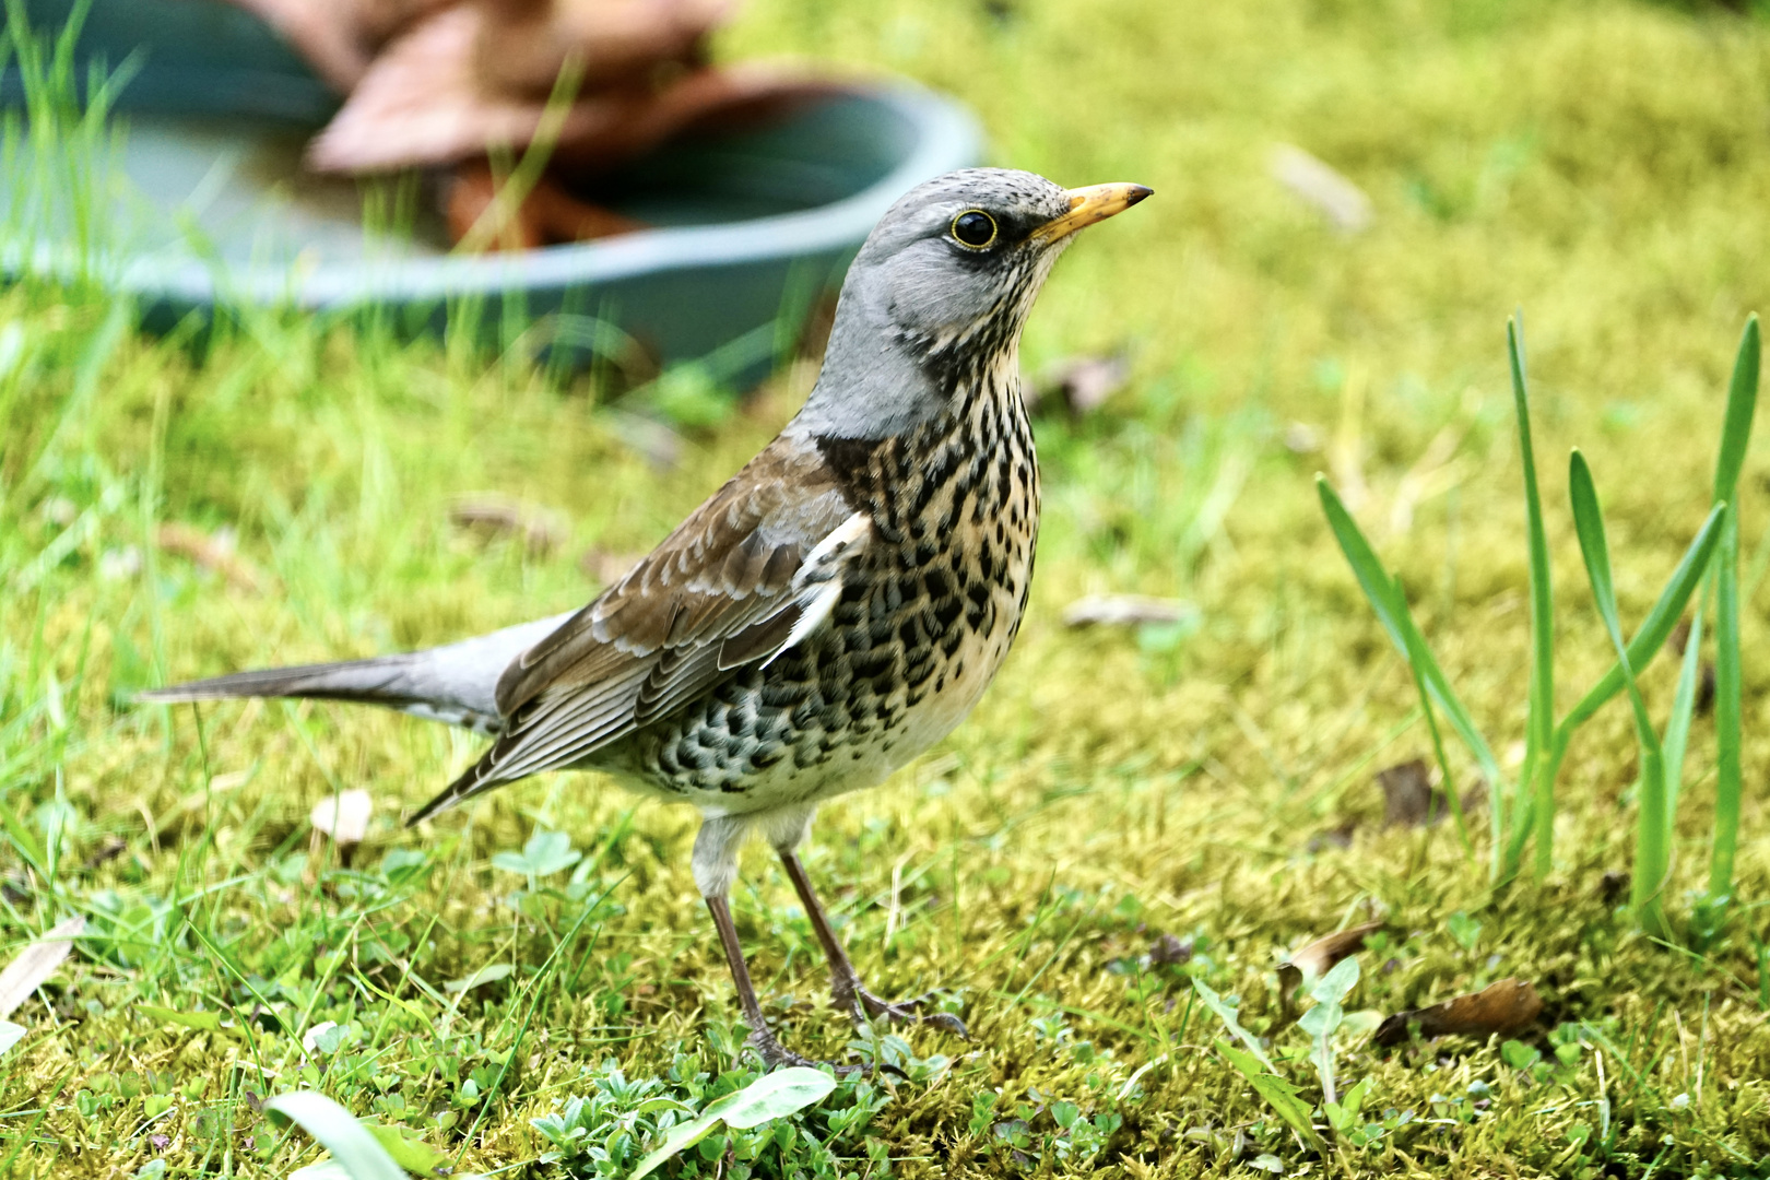
[{"label": "yellow-green mossy grass ground around the bird", "polygon": [[[1609,656],[1558,456],[1591,456],[1625,619],[1639,619],[1706,508],[1738,327],[1770,306],[1770,27],[1616,2],[752,0],[724,51],[903,71],[975,104],[998,163],[1158,193],[1071,251],[1028,329],[1032,370],[1127,345],[1135,375],[1085,421],[1037,423],[1046,518],[1020,647],[940,750],[825,808],[807,854],[862,973],[883,992],[947,989],[975,1033],[906,1033],[950,1070],[899,1084],[864,1130],[832,1132],[841,1169],[1257,1175],[1273,1153],[1315,1175],[1758,1175],[1765,596],[1745,610],[1738,902],[1696,957],[1634,934],[1605,892],[1632,853],[1621,704],[1563,771],[1547,881],[1490,892],[1485,862],[1448,831],[1381,830],[1370,775],[1427,754],[1427,738],[1310,481],[1326,469],[1363,488],[1358,513],[1439,658],[1512,747],[1524,513],[1503,324],[1522,306],[1558,688],[1570,701],[1589,685]],[[1361,184],[1374,226],[1343,237],[1274,184],[1274,142]],[[349,708],[198,718],[127,695],[577,605],[593,591],[579,552],[662,536],[784,421],[804,373],[655,469],[623,442],[623,410],[522,363],[274,322],[193,359],[108,315],[37,288],[0,297],[21,349],[0,363],[0,807],[37,842],[62,830],[53,881],[25,872],[16,833],[0,849],[4,954],[76,911],[99,936],[50,1007],[14,1017],[32,1033],[0,1060],[0,1171],[122,1176],[165,1161],[166,1175],[281,1176],[313,1148],[255,1099],[306,1084],[458,1152],[464,1169],[559,1175],[533,1162],[549,1145],[529,1120],[589,1093],[591,1067],[731,1069],[731,985],[687,867],[692,816],[550,777],[407,831],[400,810],[476,741]],[[1310,437],[1320,449],[1299,446]],[[1749,557],[1766,474],[1759,448],[1742,485]],[[563,510],[572,541],[531,556],[460,536],[448,506],[476,488]],[[156,552],[159,522],[237,529],[264,587]],[[1184,596],[1202,623],[1142,644],[1064,630],[1062,607],[1092,591]],[[1648,674],[1658,716],[1671,676],[1669,662]],[[1701,724],[1687,782],[1676,915],[1706,869]],[[294,860],[313,803],[350,785],[379,803],[354,872],[324,846]],[[1349,846],[1315,840],[1354,819]],[[513,900],[529,883],[490,856],[536,828],[588,854],[584,888],[554,876]],[[389,849],[430,858],[398,872]],[[565,968],[542,975],[604,890]],[[784,1037],[843,1054],[851,1033],[821,1003],[816,941],[759,849],[735,908]],[[1221,1030],[1188,978],[1239,994],[1244,1021],[1296,1051],[1285,1069],[1313,1100],[1301,1033],[1278,1031],[1274,964],[1366,916],[1388,932],[1351,1007],[1393,1012],[1517,975],[1545,1000],[1524,1037],[1545,1063],[1520,1069],[1497,1042],[1379,1053],[1347,1038],[1338,1069],[1374,1079],[1366,1111],[1412,1122],[1310,1159],[1209,1049]],[[1189,962],[1149,962],[1161,934],[1191,938]],[[499,962],[515,971],[442,991]],[[260,1000],[280,1017],[244,1019]],[[205,1033],[142,1005],[234,1005],[242,1026]],[[343,1033],[304,1065],[320,1021]],[[1558,1058],[1558,1044],[1574,1047]],[[501,1093],[464,1097],[513,1046]],[[997,1092],[993,1107],[979,1097]],[[1064,1102],[1104,1130],[1064,1130]],[[770,1175],[779,1157],[749,1166]]]}]

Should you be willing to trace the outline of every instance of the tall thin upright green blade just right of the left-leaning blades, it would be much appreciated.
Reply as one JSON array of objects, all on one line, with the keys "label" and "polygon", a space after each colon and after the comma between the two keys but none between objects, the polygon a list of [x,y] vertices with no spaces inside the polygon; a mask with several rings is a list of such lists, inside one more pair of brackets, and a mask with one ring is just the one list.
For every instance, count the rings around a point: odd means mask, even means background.
[{"label": "tall thin upright green blade just right of the left-leaning blades", "polygon": [[[1524,384],[1524,331],[1517,317],[1506,320],[1506,356],[1512,368],[1512,405],[1519,419],[1519,456],[1524,462],[1524,525],[1529,543],[1531,591],[1531,688],[1524,729],[1524,768],[1512,810],[1517,828],[1512,849],[1520,846],[1526,816],[1536,837],[1536,879],[1549,876],[1554,858],[1554,778],[1542,773],[1554,736],[1554,591],[1549,580],[1549,538],[1543,531],[1542,495],[1536,490],[1536,451],[1531,446],[1531,403]],[[1501,805],[1499,794],[1494,807]],[[1517,870],[1508,849],[1501,876]]]}]

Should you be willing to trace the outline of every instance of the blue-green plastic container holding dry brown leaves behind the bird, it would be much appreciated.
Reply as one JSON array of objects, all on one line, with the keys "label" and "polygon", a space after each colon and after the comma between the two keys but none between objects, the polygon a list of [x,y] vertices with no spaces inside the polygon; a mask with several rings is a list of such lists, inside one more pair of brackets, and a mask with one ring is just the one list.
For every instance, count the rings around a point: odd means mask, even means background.
[{"label": "blue-green plastic container holding dry brown leaves behind the bird", "polygon": [[[27,9],[55,32],[73,5]],[[658,359],[701,357],[766,341],[782,313],[841,281],[901,193],[982,152],[965,108],[915,85],[874,85],[763,129],[671,145],[612,177],[605,203],[657,228],[451,255],[428,195],[409,188],[418,212],[393,237],[365,228],[368,188],[299,168],[336,99],[257,18],[219,0],[94,0],[80,76],[87,62],[131,55],[113,157],[127,182],[108,186],[108,244],[90,269],[158,329],[228,306],[373,308],[414,331],[471,310],[506,334],[552,317],[558,331],[543,338],[573,350],[612,324]],[[16,69],[0,76],[0,103],[23,103]],[[5,202],[0,191],[0,225]],[[9,265],[55,274],[67,257],[65,242],[39,241]],[[766,363],[756,347],[733,349],[733,377]]]}]

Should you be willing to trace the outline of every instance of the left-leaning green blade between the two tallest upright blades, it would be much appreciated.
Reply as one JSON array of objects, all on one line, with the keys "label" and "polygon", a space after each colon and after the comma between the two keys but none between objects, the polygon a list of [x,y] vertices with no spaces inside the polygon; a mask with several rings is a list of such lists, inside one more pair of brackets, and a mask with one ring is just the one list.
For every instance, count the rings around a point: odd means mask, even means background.
[{"label": "left-leaning green blade between the two tallest upright blades", "polygon": [[1568,460],[1568,495],[1574,501],[1574,531],[1579,534],[1581,557],[1586,559],[1591,596],[1604,617],[1604,628],[1611,633],[1611,644],[1616,647],[1623,685],[1628,688],[1628,704],[1634,706],[1635,741],[1641,743],[1641,803],[1635,817],[1635,872],[1630,902],[1641,927],[1666,938],[1671,929],[1666,925],[1660,893],[1671,870],[1671,831],[1666,814],[1664,750],[1658,734],[1653,732],[1653,722],[1648,720],[1646,701],[1641,699],[1641,686],[1628,663],[1628,646],[1623,642],[1623,626],[1616,616],[1616,587],[1611,582],[1611,545],[1604,536],[1604,513],[1598,508],[1598,492],[1591,485],[1591,469],[1577,449]]}]

